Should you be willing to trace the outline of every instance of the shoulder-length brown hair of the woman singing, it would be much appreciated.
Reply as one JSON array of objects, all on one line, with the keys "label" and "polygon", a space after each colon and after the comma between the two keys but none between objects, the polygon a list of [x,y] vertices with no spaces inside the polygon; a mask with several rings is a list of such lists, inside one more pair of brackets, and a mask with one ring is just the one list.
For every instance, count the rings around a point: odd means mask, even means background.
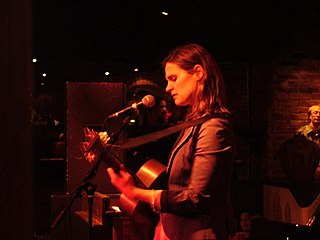
[{"label": "shoulder-length brown hair of the woman singing", "polygon": [[162,66],[174,63],[189,73],[194,73],[194,66],[199,64],[204,75],[198,83],[187,119],[201,117],[211,113],[229,113],[226,107],[224,80],[216,61],[211,54],[198,44],[181,45],[170,51],[162,61]]}]

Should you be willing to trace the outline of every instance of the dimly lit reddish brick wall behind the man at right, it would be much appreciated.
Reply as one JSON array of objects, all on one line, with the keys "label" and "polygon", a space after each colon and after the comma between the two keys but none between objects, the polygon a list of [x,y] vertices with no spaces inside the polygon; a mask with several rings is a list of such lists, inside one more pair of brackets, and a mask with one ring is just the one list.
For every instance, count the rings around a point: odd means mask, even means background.
[{"label": "dimly lit reddish brick wall behind the man at right", "polygon": [[250,93],[253,171],[281,177],[279,145],[308,123],[309,106],[320,103],[320,61],[255,66]]}]

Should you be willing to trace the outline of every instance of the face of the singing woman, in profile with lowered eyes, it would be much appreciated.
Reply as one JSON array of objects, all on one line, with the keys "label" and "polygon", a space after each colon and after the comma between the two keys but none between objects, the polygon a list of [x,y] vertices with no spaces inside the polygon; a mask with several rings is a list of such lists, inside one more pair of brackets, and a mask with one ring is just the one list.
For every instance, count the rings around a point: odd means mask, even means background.
[{"label": "face of the singing woman, in profile with lowered eyes", "polygon": [[177,106],[188,106],[193,103],[193,94],[197,88],[196,73],[190,74],[175,63],[165,66],[167,79],[166,92],[170,93]]}]

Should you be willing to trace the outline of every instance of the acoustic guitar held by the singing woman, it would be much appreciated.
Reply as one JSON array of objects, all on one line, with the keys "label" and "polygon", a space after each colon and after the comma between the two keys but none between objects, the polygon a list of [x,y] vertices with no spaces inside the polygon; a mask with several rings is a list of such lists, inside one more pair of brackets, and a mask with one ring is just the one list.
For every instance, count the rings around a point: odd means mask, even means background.
[{"label": "acoustic guitar held by the singing woman", "polygon": [[[115,171],[119,170],[122,162],[110,151],[112,145],[108,144],[110,137],[106,132],[96,132],[84,128],[85,141],[81,143],[81,151],[85,159],[90,162],[103,160],[107,166]],[[130,170],[128,170],[130,172]],[[158,189],[164,185],[166,167],[155,159],[144,163],[136,173],[130,172],[136,185],[146,189]],[[158,221],[148,204],[130,199],[130,196],[120,195],[119,208],[121,212],[130,216],[138,233],[143,239],[152,239]]]}]

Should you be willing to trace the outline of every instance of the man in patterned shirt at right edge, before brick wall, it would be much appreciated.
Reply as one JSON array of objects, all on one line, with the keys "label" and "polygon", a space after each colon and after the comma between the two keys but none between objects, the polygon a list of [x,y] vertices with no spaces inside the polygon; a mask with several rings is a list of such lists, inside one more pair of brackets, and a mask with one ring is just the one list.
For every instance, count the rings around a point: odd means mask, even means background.
[{"label": "man in patterned shirt at right edge, before brick wall", "polygon": [[[308,121],[309,123],[307,125],[298,129],[297,134],[303,135],[320,147],[320,104],[309,107]],[[320,179],[320,161],[314,174],[314,178],[317,180]]]}]

